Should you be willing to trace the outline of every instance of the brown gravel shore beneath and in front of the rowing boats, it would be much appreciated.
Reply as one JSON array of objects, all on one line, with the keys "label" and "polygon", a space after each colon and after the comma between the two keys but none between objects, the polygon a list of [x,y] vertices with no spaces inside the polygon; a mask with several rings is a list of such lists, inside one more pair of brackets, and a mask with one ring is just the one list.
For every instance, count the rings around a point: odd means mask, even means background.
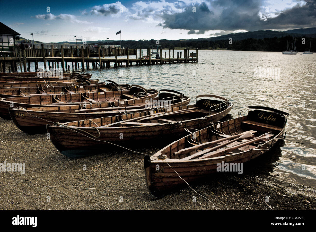
[{"label": "brown gravel shore beneath and in front of the rowing boats", "polygon": [[[161,147],[137,151],[153,154]],[[0,163],[5,161],[25,163],[25,174],[0,172],[1,210],[215,210],[189,187],[161,199],[151,196],[138,153],[117,150],[69,159],[46,134],[28,135],[0,119]],[[315,209],[315,188],[269,177],[269,170],[260,171],[262,161],[244,164],[242,175],[216,173],[191,186],[218,210]]]}]

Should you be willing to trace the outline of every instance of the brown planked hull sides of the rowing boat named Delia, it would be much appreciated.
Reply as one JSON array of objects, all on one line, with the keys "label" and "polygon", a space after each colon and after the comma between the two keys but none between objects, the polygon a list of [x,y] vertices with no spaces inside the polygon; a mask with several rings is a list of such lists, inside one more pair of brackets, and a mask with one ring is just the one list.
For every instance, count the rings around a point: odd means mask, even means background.
[{"label": "brown planked hull sides of the rowing boat named Delia", "polygon": [[[220,127],[217,127],[216,130],[223,132],[225,134],[236,133],[241,131],[241,122],[247,120],[248,116],[243,116],[240,118],[231,119],[221,123]],[[218,124],[219,125],[219,124]],[[209,128],[204,128],[200,131],[195,132],[196,139],[195,141],[204,142],[209,139],[208,134]],[[279,136],[283,136],[284,128],[278,133]],[[191,136],[189,138],[189,136]],[[217,164],[225,163],[245,163],[251,159],[257,158],[259,155],[263,154],[266,148],[272,147],[280,137],[273,137],[271,140],[268,140],[262,147],[257,147],[258,150],[245,150],[233,155],[226,155],[214,158],[205,158],[205,159],[191,159],[191,160],[181,160],[176,158],[167,158],[166,161],[170,166],[163,160],[157,159],[156,156],[159,154],[166,154],[168,157],[172,157],[174,152],[179,151],[180,149],[185,148],[185,143],[188,139],[191,139],[192,135],[185,136],[179,139],[172,144],[161,149],[154,156],[146,155],[144,157],[144,169],[145,169],[145,178],[146,184],[149,192],[155,197],[162,197],[169,193],[172,193],[188,183],[198,181],[204,178],[209,177],[210,174],[215,173],[218,168]],[[192,139],[193,140],[193,139]],[[157,165],[159,170],[157,170]],[[178,174],[182,179],[179,178]]]}]

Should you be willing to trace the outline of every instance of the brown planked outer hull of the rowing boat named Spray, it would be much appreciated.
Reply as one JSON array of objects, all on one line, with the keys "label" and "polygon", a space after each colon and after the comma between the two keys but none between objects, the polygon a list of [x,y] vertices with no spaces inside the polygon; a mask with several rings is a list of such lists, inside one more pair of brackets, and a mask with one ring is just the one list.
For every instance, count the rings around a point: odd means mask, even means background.
[{"label": "brown planked outer hull of the rowing boat named Spray", "polygon": [[[185,106],[181,107],[181,109],[187,109],[194,106],[195,105]],[[232,107],[233,104],[226,110],[218,112],[215,115],[183,121],[181,124],[162,123],[150,126],[98,128],[100,137],[97,139],[92,139],[86,136],[86,133],[95,136],[98,135],[97,130],[91,127],[78,127],[78,129],[83,131],[82,134],[62,126],[47,125],[47,132],[50,134],[53,145],[63,155],[69,158],[81,158],[104,151],[104,147],[109,147],[109,144],[106,144],[103,141],[111,142],[116,145],[138,145],[144,144],[144,141],[165,143],[166,141],[187,134],[185,128],[205,128],[209,126],[212,120],[218,121],[225,117]],[[172,110],[180,110],[180,107],[172,108]],[[100,119],[98,120],[100,121]],[[93,126],[93,124],[90,126]]]}]

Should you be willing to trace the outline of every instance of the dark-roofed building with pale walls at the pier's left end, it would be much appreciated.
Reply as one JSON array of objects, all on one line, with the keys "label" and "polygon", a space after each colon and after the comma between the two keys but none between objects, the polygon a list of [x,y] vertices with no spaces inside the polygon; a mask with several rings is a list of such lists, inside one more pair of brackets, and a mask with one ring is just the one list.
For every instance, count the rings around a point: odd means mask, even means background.
[{"label": "dark-roofed building with pale walls at the pier's left end", "polygon": [[0,51],[14,51],[16,35],[20,34],[0,22]]}]

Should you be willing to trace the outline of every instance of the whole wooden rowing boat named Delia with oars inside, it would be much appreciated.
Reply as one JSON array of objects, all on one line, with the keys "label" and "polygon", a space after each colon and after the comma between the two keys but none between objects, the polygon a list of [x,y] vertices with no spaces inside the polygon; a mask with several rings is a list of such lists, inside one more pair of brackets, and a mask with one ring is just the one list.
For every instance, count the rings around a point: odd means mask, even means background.
[{"label": "whole wooden rowing boat named Delia with oars inside", "polygon": [[144,168],[149,192],[161,197],[185,186],[185,181],[197,181],[222,171],[219,167],[236,167],[235,164],[256,158],[283,139],[288,113],[269,107],[248,108],[253,110],[247,116],[197,130],[153,156],[146,155]]}]

